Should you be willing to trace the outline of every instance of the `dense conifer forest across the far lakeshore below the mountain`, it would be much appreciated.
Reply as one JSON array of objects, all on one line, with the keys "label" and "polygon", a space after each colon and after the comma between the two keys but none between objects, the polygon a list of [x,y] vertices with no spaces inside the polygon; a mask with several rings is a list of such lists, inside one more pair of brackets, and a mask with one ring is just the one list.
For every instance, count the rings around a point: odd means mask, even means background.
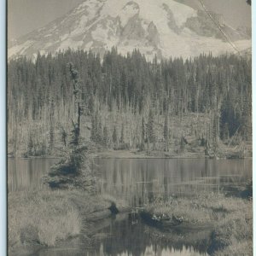
[{"label": "dense conifer forest across the far lakeshore below the mountain", "polygon": [[[116,48],[101,59],[67,49],[9,61],[8,143],[14,152],[51,154],[67,131],[76,113],[70,62],[79,71],[81,132],[96,145],[168,151],[174,141],[183,148],[188,132],[208,147],[234,135],[251,141],[251,60],[210,53],[148,61],[137,49],[119,55]],[[177,123],[193,127],[175,131]]]}]

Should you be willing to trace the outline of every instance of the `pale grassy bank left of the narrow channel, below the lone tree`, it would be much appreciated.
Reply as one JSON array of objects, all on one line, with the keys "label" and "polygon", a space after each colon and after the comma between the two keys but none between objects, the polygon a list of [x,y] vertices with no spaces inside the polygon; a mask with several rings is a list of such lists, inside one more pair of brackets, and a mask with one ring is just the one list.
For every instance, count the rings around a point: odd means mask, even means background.
[{"label": "pale grassy bank left of the narrow channel, below the lone tree", "polygon": [[86,235],[86,218],[107,209],[113,200],[79,191],[10,193],[9,253],[24,246],[52,247],[82,230]]}]

